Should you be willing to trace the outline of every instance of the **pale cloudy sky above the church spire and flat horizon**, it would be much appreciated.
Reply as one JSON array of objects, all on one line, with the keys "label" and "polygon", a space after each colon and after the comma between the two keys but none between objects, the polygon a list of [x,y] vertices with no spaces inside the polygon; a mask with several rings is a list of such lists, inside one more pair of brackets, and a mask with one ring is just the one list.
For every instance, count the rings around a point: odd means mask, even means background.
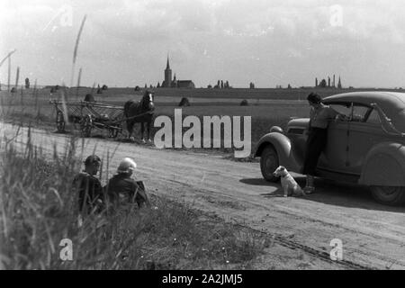
[{"label": "pale cloudy sky above the church spire and flat horizon", "polygon": [[[72,81],[76,37],[84,16]],[[402,0],[0,0],[0,61],[12,83],[197,87],[405,87]],[[7,82],[7,61],[0,82]],[[20,80],[20,83],[23,81]]]}]

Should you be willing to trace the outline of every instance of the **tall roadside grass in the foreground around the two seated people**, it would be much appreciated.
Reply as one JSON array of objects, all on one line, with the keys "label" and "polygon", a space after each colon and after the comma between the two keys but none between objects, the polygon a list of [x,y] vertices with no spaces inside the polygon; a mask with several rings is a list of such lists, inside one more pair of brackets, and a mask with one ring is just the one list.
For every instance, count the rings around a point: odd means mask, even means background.
[{"label": "tall roadside grass in the foreground around the two seated people", "polygon": [[[157,210],[122,206],[79,227],[71,187],[80,169],[75,139],[52,157],[30,144],[0,144],[0,268],[243,269],[268,244],[260,234],[156,194]],[[59,258],[64,238],[73,243],[73,261]]]}]

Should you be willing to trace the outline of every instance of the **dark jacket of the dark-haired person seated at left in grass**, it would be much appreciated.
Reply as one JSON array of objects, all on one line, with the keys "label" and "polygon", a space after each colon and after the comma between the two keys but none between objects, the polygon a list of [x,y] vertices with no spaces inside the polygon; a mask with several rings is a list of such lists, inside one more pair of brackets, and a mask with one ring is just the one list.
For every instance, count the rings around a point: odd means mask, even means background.
[{"label": "dark jacket of the dark-haired person seated at left in grass", "polygon": [[73,179],[73,188],[78,196],[78,209],[83,214],[103,210],[103,188],[100,180],[85,171]]}]

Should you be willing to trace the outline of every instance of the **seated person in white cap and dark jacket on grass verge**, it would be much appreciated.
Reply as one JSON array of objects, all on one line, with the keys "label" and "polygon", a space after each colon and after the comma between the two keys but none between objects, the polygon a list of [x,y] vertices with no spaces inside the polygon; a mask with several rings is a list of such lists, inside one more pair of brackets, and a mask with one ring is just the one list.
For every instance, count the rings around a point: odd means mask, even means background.
[{"label": "seated person in white cap and dark jacket on grass verge", "polygon": [[124,158],[118,166],[117,174],[113,175],[105,186],[110,202],[115,207],[134,202],[137,202],[139,208],[145,204],[151,207],[145,186],[141,181],[136,181],[131,177],[136,167],[137,164],[130,157]]}]

